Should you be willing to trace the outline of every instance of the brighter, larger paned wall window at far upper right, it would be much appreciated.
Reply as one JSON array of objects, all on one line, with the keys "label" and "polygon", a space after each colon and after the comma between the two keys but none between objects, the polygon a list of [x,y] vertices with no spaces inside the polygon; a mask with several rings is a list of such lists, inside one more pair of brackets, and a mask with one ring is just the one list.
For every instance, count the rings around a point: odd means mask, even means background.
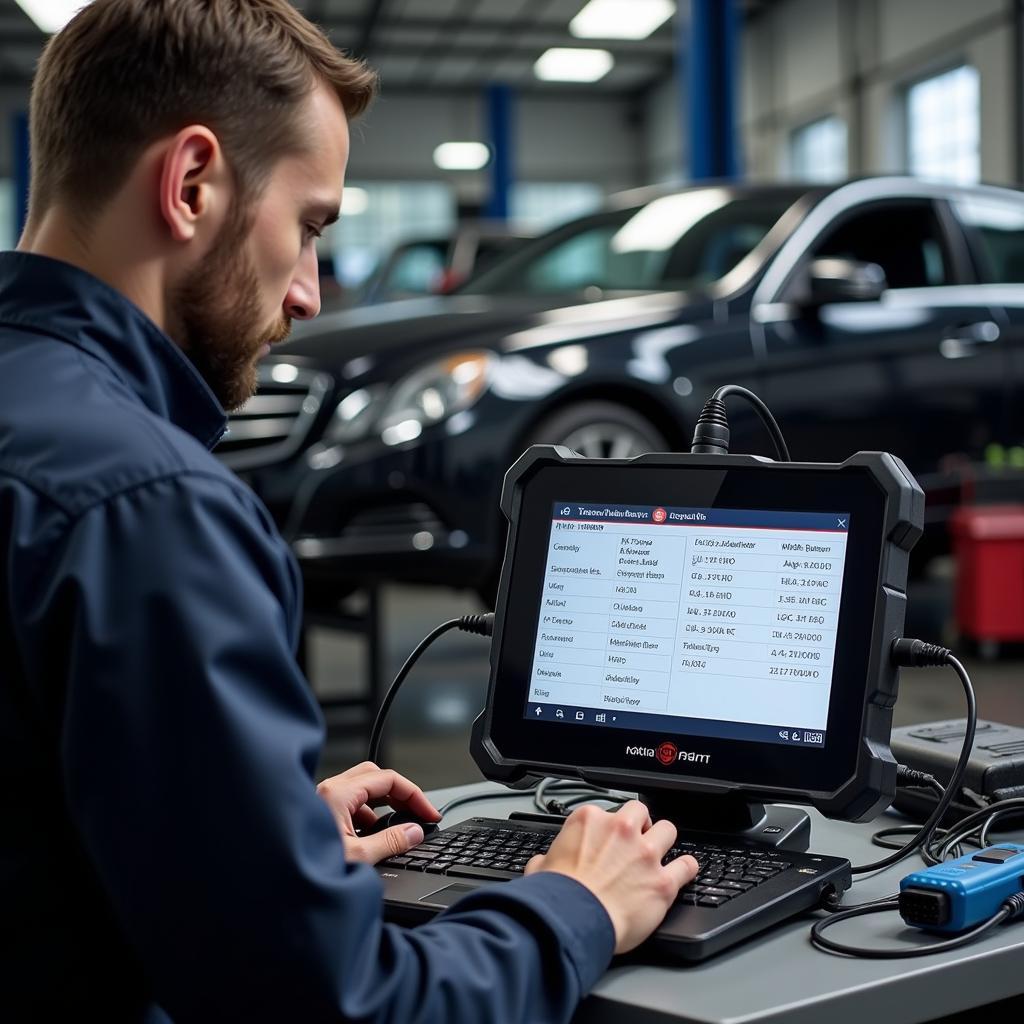
[{"label": "brighter, larger paned wall window at far upper right", "polygon": [[906,93],[907,169],[939,181],[981,177],[978,69],[969,65],[910,86]]}]

